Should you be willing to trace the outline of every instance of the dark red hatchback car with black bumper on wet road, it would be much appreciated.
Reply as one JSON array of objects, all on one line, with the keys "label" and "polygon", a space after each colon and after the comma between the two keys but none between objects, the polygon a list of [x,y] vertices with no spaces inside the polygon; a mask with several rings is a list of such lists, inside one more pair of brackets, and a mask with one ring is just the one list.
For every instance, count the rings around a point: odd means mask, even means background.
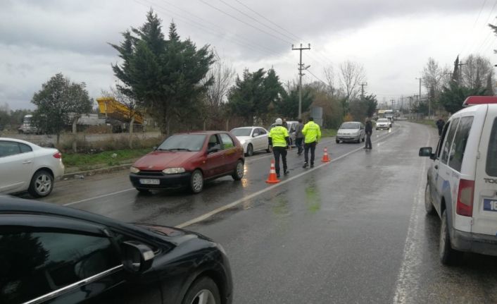
[{"label": "dark red hatchback car with black bumper on wet road", "polygon": [[188,186],[193,193],[206,180],[244,177],[244,148],[228,132],[204,131],[170,136],[130,168],[130,180],[140,192]]}]

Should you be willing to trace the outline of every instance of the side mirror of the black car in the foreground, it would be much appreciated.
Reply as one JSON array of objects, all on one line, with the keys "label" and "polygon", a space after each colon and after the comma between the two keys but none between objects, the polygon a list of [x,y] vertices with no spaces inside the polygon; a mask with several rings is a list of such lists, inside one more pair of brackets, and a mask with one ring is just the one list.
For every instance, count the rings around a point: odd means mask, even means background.
[{"label": "side mirror of the black car in the foreground", "polygon": [[121,243],[122,265],[128,272],[141,273],[152,267],[153,250],[142,243],[136,241],[126,241]]}]

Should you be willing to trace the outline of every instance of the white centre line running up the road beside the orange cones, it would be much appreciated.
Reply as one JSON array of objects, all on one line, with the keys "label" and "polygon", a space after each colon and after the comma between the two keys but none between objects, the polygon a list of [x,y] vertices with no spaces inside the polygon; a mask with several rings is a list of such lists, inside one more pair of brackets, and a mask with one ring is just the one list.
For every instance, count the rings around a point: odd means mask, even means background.
[{"label": "white centre line running up the road beside the orange cones", "polygon": [[[396,133],[396,131],[391,132],[391,133],[389,133],[389,134],[385,135],[385,136],[384,136],[384,138],[388,138],[388,137],[389,137],[389,135],[392,135],[392,134],[394,134],[394,133]],[[382,138],[382,140],[383,140],[384,138]],[[306,171],[303,171],[302,173],[297,174],[296,176],[292,176],[291,178],[287,178],[287,179],[285,179],[284,181],[280,181],[279,183],[276,183],[276,184],[274,184],[274,185],[272,185],[272,186],[269,186],[268,188],[264,188],[263,190],[259,190],[259,191],[257,191],[256,193],[252,193],[251,195],[247,195],[246,197],[241,197],[239,200],[235,200],[234,202],[231,202],[231,203],[229,203],[228,205],[224,205],[224,206],[222,206],[222,207],[219,207],[219,208],[217,208],[217,209],[214,209],[214,210],[213,210],[213,211],[211,211],[211,212],[207,212],[206,214],[202,214],[200,217],[196,217],[196,218],[191,219],[191,220],[189,220],[189,221],[185,221],[184,223],[179,224],[179,225],[177,225],[177,226],[175,226],[175,227],[176,227],[176,228],[184,228],[184,227],[187,227],[187,226],[190,226],[190,225],[193,225],[193,224],[199,223],[200,221],[205,221],[206,219],[208,219],[209,217],[212,217],[212,216],[213,216],[213,215],[215,215],[215,214],[218,214],[218,213],[223,212],[223,211],[225,211],[225,210],[227,210],[227,209],[230,209],[230,208],[232,208],[232,207],[235,207],[235,206],[237,206],[237,205],[240,205],[242,202],[245,202],[246,200],[251,200],[251,198],[253,198],[253,197],[256,197],[256,196],[258,196],[258,195],[261,195],[261,194],[263,194],[263,193],[266,193],[266,192],[268,192],[268,191],[270,191],[270,190],[272,190],[272,189],[275,189],[275,188],[277,188],[277,187],[279,187],[279,186],[282,186],[282,185],[284,185],[284,184],[286,184],[286,183],[289,183],[290,181],[294,181],[294,179],[296,179],[296,178],[299,178],[299,177],[304,176],[304,175],[306,175],[306,174],[310,174],[310,172],[312,172],[312,171],[314,171],[314,170],[317,170],[317,169],[320,169],[322,166],[326,166],[327,164],[331,164],[332,162],[336,162],[336,161],[338,161],[339,159],[342,159],[342,158],[344,158],[344,157],[347,157],[348,155],[350,155],[350,154],[352,154],[352,153],[355,153],[355,152],[358,152],[359,150],[363,150],[363,149],[364,149],[363,147],[360,147],[360,148],[357,148],[357,149],[352,150],[352,151],[350,151],[350,152],[347,152],[346,154],[343,154],[343,155],[341,155],[341,156],[339,156],[339,157],[336,157],[335,159],[332,159],[332,161],[331,161],[331,162],[325,162],[325,163],[323,163],[323,164],[320,164],[320,165],[318,165],[318,166],[315,166],[313,169],[308,169],[308,170],[306,170]]]}]

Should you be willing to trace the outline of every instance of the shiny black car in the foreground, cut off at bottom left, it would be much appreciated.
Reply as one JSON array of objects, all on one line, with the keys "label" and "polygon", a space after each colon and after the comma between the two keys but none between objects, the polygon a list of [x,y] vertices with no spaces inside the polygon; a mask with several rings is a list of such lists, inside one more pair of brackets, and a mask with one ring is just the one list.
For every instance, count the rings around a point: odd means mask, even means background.
[{"label": "shiny black car in the foreground, cut off at bottom left", "polygon": [[229,304],[232,277],[198,233],[0,196],[0,303]]}]

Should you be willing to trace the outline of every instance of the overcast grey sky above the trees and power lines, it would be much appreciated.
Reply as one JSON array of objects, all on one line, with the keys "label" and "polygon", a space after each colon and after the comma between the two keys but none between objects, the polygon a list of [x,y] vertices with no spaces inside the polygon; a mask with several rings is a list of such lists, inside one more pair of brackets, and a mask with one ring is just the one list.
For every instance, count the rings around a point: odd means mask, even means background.
[{"label": "overcast grey sky above the trees and power lines", "polygon": [[[432,56],[441,66],[481,54],[497,63],[497,0],[0,0],[0,105],[29,108],[32,95],[56,73],[87,83],[92,98],[108,90],[118,61],[108,43],[144,23],[153,8],[167,35],[174,20],[182,38],[210,44],[243,68],[274,67],[282,81],[297,74],[298,51],[310,65],[304,81],[325,80],[324,66],[363,64],[367,93],[380,102],[416,94]],[[248,16],[247,16],[248,15]]]}]

